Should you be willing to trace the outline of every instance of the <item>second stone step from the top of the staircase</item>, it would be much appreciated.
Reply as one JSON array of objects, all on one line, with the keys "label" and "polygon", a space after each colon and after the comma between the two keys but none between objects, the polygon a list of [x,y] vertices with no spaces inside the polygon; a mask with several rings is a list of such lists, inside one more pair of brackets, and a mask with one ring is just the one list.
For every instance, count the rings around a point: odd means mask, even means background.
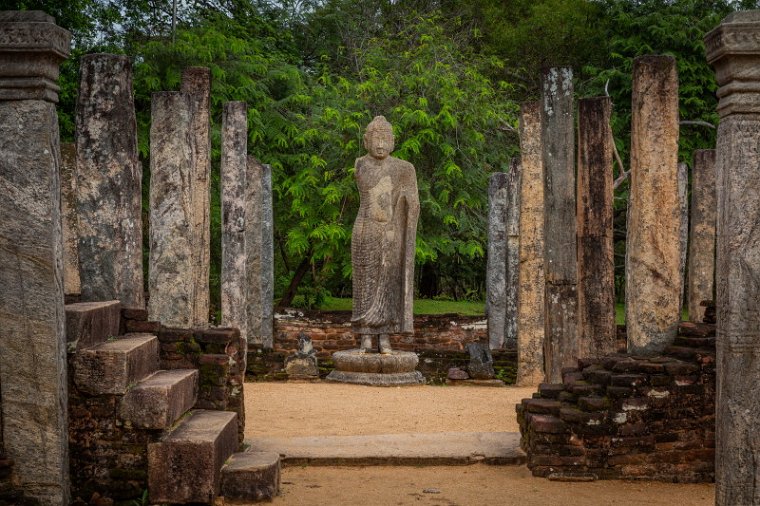
[{"label": "second stone step from the top of the staircase", "polygon": [[158,338],[151,334],[126,334],[77,352],[74,384],[92,395],[127,393],[158,370]]}]

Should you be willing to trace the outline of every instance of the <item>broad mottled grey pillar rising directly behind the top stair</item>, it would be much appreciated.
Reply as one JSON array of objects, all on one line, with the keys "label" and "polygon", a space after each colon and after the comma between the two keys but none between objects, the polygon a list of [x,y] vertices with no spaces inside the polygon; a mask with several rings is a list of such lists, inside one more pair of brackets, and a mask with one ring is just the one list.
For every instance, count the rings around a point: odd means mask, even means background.
[{"label": "broad mottled grey pillar rising directly behind the top stair", "polygon": [[82,57],[76,138],[82,300],[143,308],[142,165],[128,57]]}]

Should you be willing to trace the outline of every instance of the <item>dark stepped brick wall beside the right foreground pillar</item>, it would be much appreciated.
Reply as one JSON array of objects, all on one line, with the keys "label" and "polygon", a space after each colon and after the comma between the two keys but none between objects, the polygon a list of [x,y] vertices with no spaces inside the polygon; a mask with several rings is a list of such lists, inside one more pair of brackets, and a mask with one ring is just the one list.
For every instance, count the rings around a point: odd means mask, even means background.
[{"label": "dark stepped brick wall beside the right foreground pillar", "polygon": [[656,357],[580,360],[517,405],[535,476],[710,482],[715,476],[715,326],[683,323]]}]

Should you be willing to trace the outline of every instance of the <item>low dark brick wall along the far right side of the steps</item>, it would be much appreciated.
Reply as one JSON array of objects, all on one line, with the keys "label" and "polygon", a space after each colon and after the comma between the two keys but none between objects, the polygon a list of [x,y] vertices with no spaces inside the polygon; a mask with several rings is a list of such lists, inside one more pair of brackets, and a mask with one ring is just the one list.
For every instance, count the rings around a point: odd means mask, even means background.
[{"label": "low dark brick wall along the far right side of the steps", "polygon": [[245,429],[245,343],[240,331],[231,328],[175,329],[148,321],[142,309],[122,310],[123,332],[148,332],[158,336],[160,369],[198,369],[197,409],[233,411],[238,415],[238,434]]}]

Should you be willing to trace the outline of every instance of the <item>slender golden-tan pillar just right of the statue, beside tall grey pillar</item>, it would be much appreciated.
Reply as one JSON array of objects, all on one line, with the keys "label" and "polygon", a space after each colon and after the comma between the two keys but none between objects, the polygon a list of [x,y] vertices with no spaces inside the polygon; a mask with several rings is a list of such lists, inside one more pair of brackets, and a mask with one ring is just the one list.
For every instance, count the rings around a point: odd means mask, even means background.
[{"label": "slender golden-tan pillar just right of the statue, beside tall grey pillar", "polygon": [[517,295],[517,384],[544,380],[544,167],[540,104],[520,111],[520,266]]}]

